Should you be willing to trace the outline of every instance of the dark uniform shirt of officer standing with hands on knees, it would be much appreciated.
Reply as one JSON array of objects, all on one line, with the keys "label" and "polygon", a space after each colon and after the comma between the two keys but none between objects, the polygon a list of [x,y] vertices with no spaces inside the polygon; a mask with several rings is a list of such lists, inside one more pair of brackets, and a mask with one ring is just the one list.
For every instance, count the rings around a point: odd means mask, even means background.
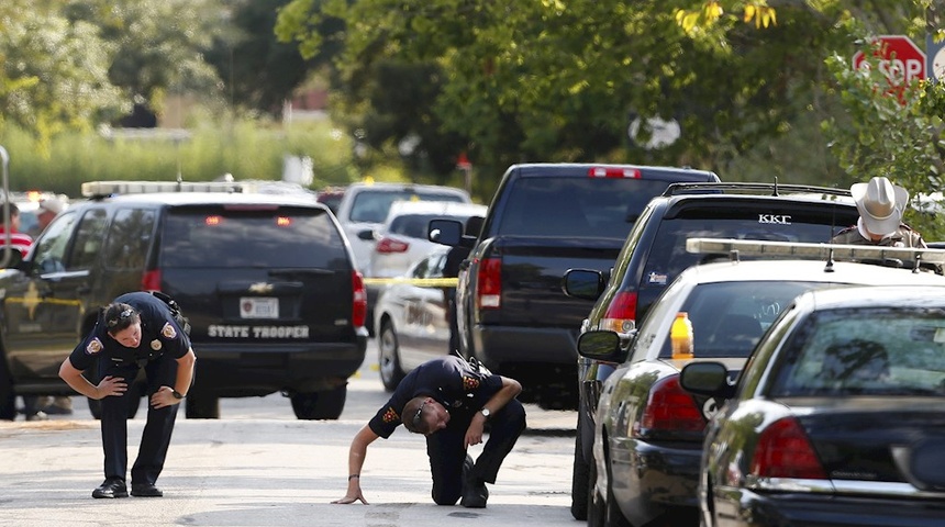
[{"label": "dark uniform shirt of officer standing with hands on knees", "polygon": [[162,355],[179,359],[190,349],[190,339],[174,321],[167,304],[147,292],[123,294],[114,300],[131,305],[141,315],[141,343],[137,348],[122,346],[108,335],[105,323],[99,316],[94,328],[81,341],[69,361],[77,370],[94,365],[97,358],[114,366],[131,366],[153,360]]}]

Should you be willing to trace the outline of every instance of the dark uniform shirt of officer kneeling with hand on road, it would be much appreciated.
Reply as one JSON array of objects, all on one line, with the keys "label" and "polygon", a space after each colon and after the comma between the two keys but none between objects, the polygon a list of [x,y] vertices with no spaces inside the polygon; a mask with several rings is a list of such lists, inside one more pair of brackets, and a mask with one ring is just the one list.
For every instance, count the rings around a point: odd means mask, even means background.
[{"label": "dark uniform shirt of officer kneeling with hand on road", "polygon": [[480,373],[460,357],[438,357],[408,373],[368,426],[387,439],[401,425],[403,407],[418,396],[430,396],[442,404],[453,424],[459,416],[471,418],[501,389],[500,375]]}]

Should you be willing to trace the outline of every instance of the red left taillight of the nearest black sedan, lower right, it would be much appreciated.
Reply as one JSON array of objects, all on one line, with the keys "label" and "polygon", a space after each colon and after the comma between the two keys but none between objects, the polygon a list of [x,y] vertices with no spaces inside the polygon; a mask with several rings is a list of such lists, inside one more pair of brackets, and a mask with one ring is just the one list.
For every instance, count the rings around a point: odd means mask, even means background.
[{"label": "red left taillight of the nearest black sedan, lower right", "polygon": [[778,419],[761,431],[752,473],[758,478],[826,479],[808,435],[793,417]]}]

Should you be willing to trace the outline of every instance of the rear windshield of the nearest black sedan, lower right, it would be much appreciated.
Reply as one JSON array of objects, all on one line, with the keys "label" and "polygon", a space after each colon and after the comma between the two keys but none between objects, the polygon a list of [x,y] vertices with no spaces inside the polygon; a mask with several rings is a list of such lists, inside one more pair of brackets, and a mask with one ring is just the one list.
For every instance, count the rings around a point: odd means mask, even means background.
[{"label": "rear windshield of the nearest black sedan, lower right", "polygon": [[945,312],[815,313],[786,343],[769,396],[945,396]]}]

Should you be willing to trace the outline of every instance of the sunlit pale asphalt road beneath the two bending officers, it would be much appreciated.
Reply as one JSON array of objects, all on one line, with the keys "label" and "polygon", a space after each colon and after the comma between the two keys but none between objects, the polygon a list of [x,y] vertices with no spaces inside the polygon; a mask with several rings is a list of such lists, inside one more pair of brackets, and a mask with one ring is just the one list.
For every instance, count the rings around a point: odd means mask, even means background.
[{"label": "sunlit pale asphalt road beneath the two bending officers", "polygon": [[[387,396],[365,366],[336,422],[297,421],[278,394],[223,400],[219,421],[181,412],[158,481],[163,498],[91,498],[102,451],[98,422],[81,399],[71,416],[0,422],[0,525],[578,525],[568,509],[576,414],[531,405],[529,430],[490,485],[485,509],[433,504],[423,438],[403,429],[368,450],[362,486],[370,505],[331,504],[345,493],[352,436]],[[129,423],[131,460],[144,413]]]}]

